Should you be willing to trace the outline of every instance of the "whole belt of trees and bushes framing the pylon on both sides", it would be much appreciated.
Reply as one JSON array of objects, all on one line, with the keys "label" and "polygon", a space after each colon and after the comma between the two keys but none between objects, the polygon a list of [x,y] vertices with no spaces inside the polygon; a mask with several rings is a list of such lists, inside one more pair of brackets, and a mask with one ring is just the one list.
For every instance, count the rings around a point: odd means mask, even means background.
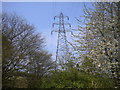
[{"label": "whole belt of trees and bushes framing the pylon on both sides", "polygon": [[3,88],[119,88],[120,2],[85,6],[82,17],[71,36],[74,43],[69,42],[70,60],[55,69],[34,26],[3,13]]}]

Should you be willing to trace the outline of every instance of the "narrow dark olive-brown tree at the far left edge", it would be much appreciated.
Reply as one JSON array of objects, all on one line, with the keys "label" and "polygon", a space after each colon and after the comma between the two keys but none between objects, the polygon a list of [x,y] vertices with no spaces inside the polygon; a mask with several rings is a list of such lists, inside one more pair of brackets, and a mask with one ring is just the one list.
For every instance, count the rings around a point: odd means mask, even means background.
[{"label": "narrow dark olive-brown tree at the far left edge", "polygon": [[3,87],[5,83],[8,83],[9,77],[12,75],[12,70],[9,69],[9,62],[11,62],[11,54],[12,52],[12,45],[10,44],[10,41],[8,41],[8,38],[2,35],[2,70],[3,70],[3,77],[2,77],[2,82],[3,82]]}]

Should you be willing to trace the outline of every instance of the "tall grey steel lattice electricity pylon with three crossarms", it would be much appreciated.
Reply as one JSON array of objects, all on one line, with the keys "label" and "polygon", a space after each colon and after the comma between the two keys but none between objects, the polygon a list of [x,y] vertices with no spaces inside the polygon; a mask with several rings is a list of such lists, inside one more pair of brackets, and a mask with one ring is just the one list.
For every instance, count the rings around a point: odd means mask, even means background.
[{"label": "tall grey steel lattice electricity pylon with three crossarms", "polygon": [[54,20],[58,18],[58,23],[53,23],[53,28],[55,25],[58,25],[58,30],[53,30],[52,32],[58,32],[58,41],[57,41],[57,50],[56,50],[56,64],[63,65],[69,60],[69,49],[67,44],[67,37],[66,32],[69,32],[69,30],[66,30],[65,26],[68,25],[69,28],[71,28],[71,25],[69,23],[65,23],[64,19],[69,20],[68,16],[64,16],[61,12],[59,16],[55,16]]}]

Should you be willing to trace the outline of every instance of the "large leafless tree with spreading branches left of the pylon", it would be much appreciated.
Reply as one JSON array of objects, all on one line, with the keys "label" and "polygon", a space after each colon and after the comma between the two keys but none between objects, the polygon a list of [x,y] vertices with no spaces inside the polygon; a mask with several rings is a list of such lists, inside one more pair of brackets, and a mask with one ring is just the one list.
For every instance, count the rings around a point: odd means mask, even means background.
[{"label": "large leafless tree with spreading branches left of the pylon", "polygon": [[19,72],[37,77],[52,68],[51,55],[43,50],[44,38],[22,17],[3,13],[2,37],[3,87],[15,87]]}]

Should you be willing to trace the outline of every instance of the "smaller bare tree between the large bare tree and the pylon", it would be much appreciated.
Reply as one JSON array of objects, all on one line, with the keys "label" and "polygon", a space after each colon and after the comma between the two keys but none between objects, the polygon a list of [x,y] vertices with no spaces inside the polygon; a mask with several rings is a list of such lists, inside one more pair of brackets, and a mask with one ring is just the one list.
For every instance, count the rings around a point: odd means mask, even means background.
[{"label": "smaller bare tree between the large bare tree and the pylon", "polygon": [[46,51],[32,52],[30,62],[28,64],[28,87],[38,88],[42,84],[42,78],[49,75],[49,71],[53,70],[54,62],[51,59],[51,54]]}]

